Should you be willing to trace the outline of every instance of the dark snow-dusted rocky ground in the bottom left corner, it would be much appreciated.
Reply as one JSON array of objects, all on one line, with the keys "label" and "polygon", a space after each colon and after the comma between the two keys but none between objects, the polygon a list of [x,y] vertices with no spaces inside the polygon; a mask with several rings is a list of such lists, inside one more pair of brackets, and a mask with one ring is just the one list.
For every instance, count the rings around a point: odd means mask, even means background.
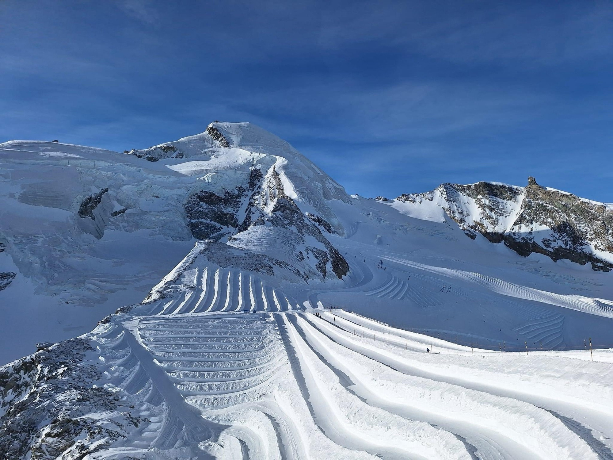
[{"label": "dark snow-dusted rocky ground in the bottom left corner", "polygon": [[148,421],[92,385],[102,377],[83,359],[92,351],[72,339],[0,368],[0,458],[82,459]]}]

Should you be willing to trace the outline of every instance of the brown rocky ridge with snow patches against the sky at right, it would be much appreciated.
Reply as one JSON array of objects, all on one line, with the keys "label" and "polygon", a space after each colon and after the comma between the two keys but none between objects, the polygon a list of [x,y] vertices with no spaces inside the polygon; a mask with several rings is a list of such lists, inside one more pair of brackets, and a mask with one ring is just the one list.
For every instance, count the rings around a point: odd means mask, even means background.
[{"label": "brown rocky ridge with snow patches against the sky at right", "polygon": [[490,182],[443,184],[397,199],[436,202],[469,237],[479,232],[522,256],[540,253],[554,261],[590,263],[594,270],[613,269],[613,210],[540,186],[534,177],[525,188]]}]

